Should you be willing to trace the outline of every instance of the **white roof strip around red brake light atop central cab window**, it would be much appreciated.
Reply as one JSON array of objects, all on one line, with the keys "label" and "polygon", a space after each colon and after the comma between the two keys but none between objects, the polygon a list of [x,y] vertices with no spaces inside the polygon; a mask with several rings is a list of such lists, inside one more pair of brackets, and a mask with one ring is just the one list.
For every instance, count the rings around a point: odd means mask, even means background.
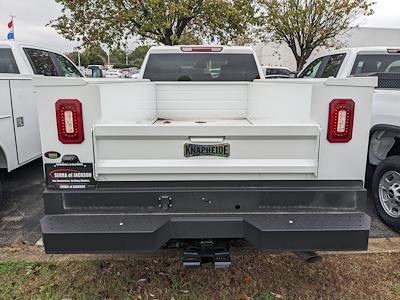
[{"label": "white roof strip around red brake light atop central cab window", "polygon": [[[222,46],[222,45],[176,45],[176,46],[153,46],[149,50],[152,53],[183,53],[183,52],[207,52],[205,49],[214,49],[214,53],[241,53],[253,54],[250,46]],[[200,51],[199,51],[200,50]],[[203,50],[203,51],[201,51]]]}]

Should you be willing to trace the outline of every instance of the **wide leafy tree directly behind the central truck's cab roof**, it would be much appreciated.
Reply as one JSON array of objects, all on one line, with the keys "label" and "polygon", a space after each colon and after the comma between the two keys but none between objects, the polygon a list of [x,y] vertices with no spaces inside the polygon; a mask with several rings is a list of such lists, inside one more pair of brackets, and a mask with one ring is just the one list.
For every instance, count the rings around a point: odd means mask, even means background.
[{"label": "wide leafy tree directly behind the central truck's cab roof", "polygon": [[235,42],[261,20],[254,0],[55,0],[62,15],[50,24],[85,46],[121,47],[138,36],[164,45],[182,37]]}]

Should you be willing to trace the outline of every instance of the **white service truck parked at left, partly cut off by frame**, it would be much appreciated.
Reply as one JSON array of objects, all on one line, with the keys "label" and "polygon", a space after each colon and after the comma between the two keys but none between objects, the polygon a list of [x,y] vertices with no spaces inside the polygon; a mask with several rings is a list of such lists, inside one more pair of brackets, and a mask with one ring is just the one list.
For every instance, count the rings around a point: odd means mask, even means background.
[{"label": "white service truck parked at left, partly cut off by frame", "polygon": [[0,169],[8,172],[41,155],[32,83],[36,76],[82,77],[82,74],[62,54],[0,41]]}]

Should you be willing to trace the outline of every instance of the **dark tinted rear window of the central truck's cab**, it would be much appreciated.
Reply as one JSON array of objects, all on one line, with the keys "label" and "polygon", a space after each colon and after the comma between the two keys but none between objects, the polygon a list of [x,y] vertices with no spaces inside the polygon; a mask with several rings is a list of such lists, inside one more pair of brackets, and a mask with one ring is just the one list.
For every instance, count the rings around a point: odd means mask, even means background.
[{"label": "dark tinted rear window of the central truck's cab", "polygon": [[252,54],[150,54],[143,78],[151,81],[253,81],[259,78]]}]

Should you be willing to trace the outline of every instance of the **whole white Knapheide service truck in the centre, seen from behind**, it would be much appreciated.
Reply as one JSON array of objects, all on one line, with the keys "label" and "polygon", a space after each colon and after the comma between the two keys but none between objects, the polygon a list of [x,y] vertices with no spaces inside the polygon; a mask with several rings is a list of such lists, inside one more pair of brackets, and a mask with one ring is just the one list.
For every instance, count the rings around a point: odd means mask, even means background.
[{"label": "whole white Knapheide service truck in the centre, seen from behind", "polygon": [[376,84],[265,80],[251,48],[226,46],[153,47],[135,81],[37,79],[46,252],[178,241],[185,266],[221,267],[232,239],[366,249]]}]

